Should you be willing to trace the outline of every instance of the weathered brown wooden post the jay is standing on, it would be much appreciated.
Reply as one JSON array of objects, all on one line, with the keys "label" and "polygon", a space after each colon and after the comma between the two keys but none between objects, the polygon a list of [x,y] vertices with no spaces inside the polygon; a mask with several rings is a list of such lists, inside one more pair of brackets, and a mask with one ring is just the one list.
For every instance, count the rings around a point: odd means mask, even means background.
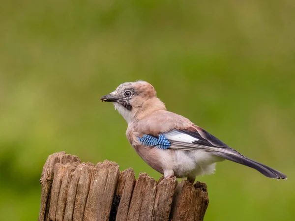
[{"label": "weathered brown wooden post the jay is standing on", "polygon": [[94,166],[58,152],[43,167],[39,221],[202,221],[207,186],[177,179],[138,180],[132,168],[104,161]]}]

